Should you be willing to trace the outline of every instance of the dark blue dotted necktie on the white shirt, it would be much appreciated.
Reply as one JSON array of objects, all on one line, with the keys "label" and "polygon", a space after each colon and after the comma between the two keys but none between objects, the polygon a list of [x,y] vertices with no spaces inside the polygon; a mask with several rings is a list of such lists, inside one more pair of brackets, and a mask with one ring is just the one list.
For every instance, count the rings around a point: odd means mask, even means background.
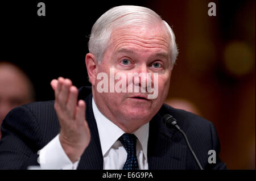
[{"label": "dark blue dotted necktie on the white shirt", "polygon": [[127,152],[127,159],[125,165],[123,165],[123,170],[139,170],[136,155],[137,137],[134,134],[125,133],[118,140],[121,141]]}]

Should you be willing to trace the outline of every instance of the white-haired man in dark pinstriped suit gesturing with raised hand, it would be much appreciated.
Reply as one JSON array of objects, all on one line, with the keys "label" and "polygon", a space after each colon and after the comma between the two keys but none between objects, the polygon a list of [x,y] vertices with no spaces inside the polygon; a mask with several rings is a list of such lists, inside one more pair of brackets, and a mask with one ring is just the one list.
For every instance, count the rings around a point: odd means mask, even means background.
[{"label": "white-haired man in dark pinstriped suit gesturing with raised hand", "polygon": [[[105,12],[85,57],[92,88],[77,90],[59,77],[51,82],[55,102],[11,111],[3,121],[0,168],[200,169],[183,135],[163,123],[172,115],[203,169],[225,169],[213,125],[163,104],[176,57],[174,33],[154,11],[118,6]],[[213,162],[209,150],[216,151]]]}]

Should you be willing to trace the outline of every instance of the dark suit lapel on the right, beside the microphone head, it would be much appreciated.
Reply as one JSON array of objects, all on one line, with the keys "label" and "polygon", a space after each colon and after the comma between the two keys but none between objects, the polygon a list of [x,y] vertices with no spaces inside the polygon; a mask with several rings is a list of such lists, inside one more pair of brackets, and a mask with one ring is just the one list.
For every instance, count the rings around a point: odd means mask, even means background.
[{"label": "dark suit lapel on the right, beside the microphone head", "polygon": [[150,121],[148,137],[148,169],[185,169],[187,146],[179,132],[167,128],[163,116],[156,114]]}]

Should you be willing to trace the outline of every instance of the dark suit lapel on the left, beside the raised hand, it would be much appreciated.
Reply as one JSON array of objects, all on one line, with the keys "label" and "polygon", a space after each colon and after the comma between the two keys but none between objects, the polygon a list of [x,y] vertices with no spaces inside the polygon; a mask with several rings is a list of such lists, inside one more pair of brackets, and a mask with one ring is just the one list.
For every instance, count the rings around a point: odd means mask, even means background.
[{"label": "dark suit lapel on the left, beside the raised hand", "polygon": [[103,156],[98,136],[98,128],[92,110],[92,93],[85,98],[86,102],[86,120],[88,122],[91,134],[91,140],[88,147],[81,156],[77,169],[102,170]]}]

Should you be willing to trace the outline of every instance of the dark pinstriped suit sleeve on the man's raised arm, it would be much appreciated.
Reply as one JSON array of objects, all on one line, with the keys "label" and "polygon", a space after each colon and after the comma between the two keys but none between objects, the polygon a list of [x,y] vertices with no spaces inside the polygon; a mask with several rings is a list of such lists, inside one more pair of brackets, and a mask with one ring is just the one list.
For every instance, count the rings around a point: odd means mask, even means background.
[{"label": "dark pinstriped suit sleeve on the man's raised arm", "polygon": [[24,106],[11,110],[3,120],[0,141],[0,169],[27,169],[39,165],[42,141],[38,122]]}]

